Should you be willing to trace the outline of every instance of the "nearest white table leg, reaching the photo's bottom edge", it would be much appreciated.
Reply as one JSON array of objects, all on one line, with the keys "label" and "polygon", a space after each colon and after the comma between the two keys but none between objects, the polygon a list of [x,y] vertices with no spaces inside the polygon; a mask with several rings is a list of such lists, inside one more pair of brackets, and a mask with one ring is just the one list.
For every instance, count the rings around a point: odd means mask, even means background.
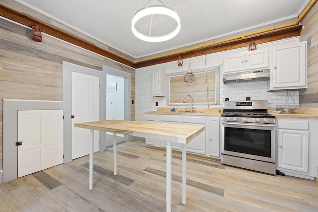
[{"label": "nearest white table leg, reaching the photo's bottom edge", "polygon": [[166,146],[166,211],[171,212],[171,190],[172,190],[172,184],[171,184],[171,169],[172,169],[172,147],[171,147],[171,141],[167,141]]}]

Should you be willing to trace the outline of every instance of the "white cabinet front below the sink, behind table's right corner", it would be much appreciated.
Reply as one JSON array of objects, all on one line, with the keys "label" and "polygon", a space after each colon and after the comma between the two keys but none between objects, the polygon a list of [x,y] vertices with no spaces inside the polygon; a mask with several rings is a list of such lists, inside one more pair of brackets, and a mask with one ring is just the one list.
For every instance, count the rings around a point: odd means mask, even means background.
[{"label": "white cabinet front below the sink, behind table's right corner", "polygon": [[[205,117],[187,117],[184,116],[182,119],[182,124],[184,125],[199,125],[205,127],[206,118]],[[194,154],[205,155],[206,151],[206,129],[192,141],[187,143],[187,152]]]}]

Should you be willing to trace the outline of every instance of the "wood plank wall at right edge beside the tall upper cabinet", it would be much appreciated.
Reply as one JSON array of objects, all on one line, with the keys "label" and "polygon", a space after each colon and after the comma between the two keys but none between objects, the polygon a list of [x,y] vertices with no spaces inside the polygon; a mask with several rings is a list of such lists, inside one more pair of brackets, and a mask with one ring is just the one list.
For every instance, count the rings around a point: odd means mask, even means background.
[{"label": "wood plank wall at right edge beside the tall upper cabinet", "polygon": [[306,41],[310,38],[308,46],[308,88],[300,92],[300,103],[302,107],[318,107],[318,3],[309,10],[302,20],[304,29],[300,40]]}]

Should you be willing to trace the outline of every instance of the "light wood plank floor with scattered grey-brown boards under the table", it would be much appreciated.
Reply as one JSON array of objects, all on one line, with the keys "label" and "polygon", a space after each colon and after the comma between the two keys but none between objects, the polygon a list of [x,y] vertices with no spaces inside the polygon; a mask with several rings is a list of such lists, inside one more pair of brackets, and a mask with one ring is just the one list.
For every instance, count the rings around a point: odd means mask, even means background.
[{"label": "light wood plank floor with scattered grey-brown boards under the table", "polygon": [[[88,156],[0,184],[0,212],[164,212],[165,151],[134,140],[94,154],[93,190]],[[172,158],[173,212],[317,212],[318,183],[272,176],[187,157],[187,204],[181,191],[181,155]]]}]

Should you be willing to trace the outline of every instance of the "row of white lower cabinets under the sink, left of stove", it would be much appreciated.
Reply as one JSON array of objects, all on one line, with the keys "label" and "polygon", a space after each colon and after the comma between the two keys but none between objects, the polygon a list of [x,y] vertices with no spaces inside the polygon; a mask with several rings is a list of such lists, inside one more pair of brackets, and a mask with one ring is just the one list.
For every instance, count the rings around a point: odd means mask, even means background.
[{"label": "row of white lower cabinets under the sink, left of stove", "polygon": [[[204,132],[187,143],[186,150],[192,154],[220,158],[220,117],[160,114],[149,117],[148,115],[146,121],[150,122],[204,126]],[[166,141],[146,138],[146,145],[165,148]],[[172,149],[180,151],[180,144],[172,142]]]}]

